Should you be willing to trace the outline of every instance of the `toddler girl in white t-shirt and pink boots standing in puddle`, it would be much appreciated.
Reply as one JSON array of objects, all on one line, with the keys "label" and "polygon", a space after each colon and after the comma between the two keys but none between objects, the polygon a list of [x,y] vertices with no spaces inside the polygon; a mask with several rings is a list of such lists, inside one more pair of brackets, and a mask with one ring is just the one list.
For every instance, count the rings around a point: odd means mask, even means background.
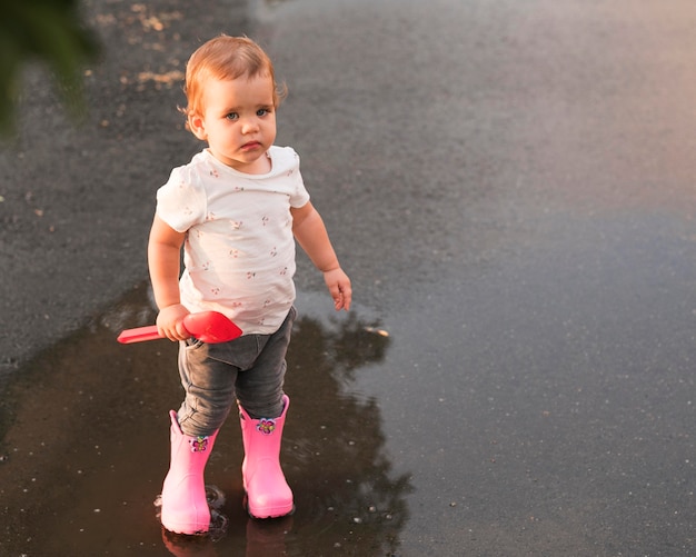
[{"label": "toddler girl in white t-shirt and pink boots standing in puddle", "polygon": [[[157,326],[179,341],[186,391],[170,412],[162,487],[162,525],[178,534],[208,531],[203,468],[235,404],[249,514],[292,511],[279,454],[290,402],[282,385],[296,316],[295,240],[324,272],[335,308],[350,307],[350,280],[309,201],[299,157],[274,146],[284,92],[268,56],[247,38],[212,39],[187,64],[187,128],[208,147],[158,190],[148,245]],[[190,338],[183,317],[205,310],[225,314],[243,335],[222,344]]]}]

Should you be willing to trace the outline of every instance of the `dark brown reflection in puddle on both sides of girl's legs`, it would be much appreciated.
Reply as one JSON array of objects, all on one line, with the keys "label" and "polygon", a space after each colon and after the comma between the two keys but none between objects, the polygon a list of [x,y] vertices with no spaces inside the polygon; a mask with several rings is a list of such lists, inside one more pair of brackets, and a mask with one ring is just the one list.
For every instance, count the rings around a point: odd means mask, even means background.
[{"label": "dark brown reflection in puddle on both sides of girl's legs", "polygon": [[38,355],[3,392],[0,554],[395,555],[409,480],[392,473],[377,401],[350,390],[357,374],[378,369],[389,338],[359,311],[329,317],[330,304],[312,310],[311,297],[298,305],[281,454],[291,517],[246,515],[241,436],[228,420],[206,470],[226,496],[227,535],[213,543],[162,531],[152,501],[168,468],[167,411],[181,392],[176,345],[116,341],[121,329],[153,322],[141,286]]}]

